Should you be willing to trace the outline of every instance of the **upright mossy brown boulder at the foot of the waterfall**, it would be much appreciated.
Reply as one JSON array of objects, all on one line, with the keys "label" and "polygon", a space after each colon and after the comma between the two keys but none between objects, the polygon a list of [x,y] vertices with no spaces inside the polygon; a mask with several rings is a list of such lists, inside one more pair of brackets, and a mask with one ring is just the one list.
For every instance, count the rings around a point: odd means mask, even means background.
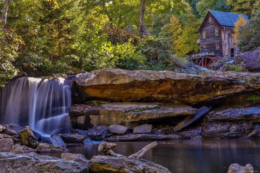
[{"label": "upright mossy brown boulder at the foot of the waterfall", "polygon": [[25,126],[22,130],[18,132],[18,134],[20,139],[22,140],[22,143],[27,147],[36,148],[39,144],[37,138],[34,136],[29,126]]}]

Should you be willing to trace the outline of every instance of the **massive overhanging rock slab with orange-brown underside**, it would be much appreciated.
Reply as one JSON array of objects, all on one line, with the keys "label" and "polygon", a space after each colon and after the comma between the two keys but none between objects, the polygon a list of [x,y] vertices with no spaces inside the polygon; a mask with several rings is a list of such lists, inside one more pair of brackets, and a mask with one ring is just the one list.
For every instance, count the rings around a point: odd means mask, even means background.
[{"label": "massive overhanging rock slab with orange-brown underside", "polygon": [[[77,74],[74,83],[75,95],[82,101],[159,101],[192,105],[219,96],[259,91],[257,77],[259,74],[230,71],[202,76],[170,71],[101,69]],[[255,79],[255,82],[247,79]]]}]

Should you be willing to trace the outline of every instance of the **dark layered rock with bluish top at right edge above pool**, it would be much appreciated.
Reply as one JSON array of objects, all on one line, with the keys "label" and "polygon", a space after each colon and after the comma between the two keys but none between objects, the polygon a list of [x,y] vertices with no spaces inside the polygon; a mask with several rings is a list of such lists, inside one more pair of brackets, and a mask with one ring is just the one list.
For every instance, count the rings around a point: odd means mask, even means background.
[{"label": "dark layered rock with bluish top at right edge above pool", "polygon": [[210,112],[202,123],[204,138],[260,138],[260,108],[228,108]]}]

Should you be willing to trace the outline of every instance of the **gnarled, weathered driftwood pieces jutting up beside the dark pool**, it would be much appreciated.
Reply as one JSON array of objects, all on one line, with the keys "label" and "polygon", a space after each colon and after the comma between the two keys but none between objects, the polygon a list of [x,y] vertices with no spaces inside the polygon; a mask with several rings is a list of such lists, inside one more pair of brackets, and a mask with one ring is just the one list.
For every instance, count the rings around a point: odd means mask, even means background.
[{"label": "gnarled, weathered driftwood pieces jutting up beside the dark pool", "polygon": [[[140,151],[138,151],[135,154],[132,154],[131,158],[141,158],[147,151],[149,151],[150,149],[152,149],[153,147],[157,146],[157,142],[154,141],[150,144],[148,144],[147,146],[145,146],[144,148],[142,148]],[[98,150],[102,151],[106,156],[114,156],[114,157],[120,157],[123,156],[121,154],[116,154],[114,153],[111,149],[116,148],[116,144],[114,143],[108,143],[106,141],[102,141],[101,144],[99,144]]]}]

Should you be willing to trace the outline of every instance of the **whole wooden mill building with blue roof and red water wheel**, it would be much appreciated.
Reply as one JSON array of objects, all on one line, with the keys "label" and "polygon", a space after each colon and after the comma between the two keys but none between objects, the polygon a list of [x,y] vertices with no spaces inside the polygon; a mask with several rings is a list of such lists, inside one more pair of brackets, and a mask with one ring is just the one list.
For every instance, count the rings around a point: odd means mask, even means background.
[{"label": "whole wooden mill building with blue roof and red water wheel", "polygon": [[207,67],[212,61],[236,56],[239,50],[232,34],[240,15],[249,21],[244,14],[209,10],[198,30],[200,39],[197,43],[200,43],[200,53],[187,56],[187,59]]}]

